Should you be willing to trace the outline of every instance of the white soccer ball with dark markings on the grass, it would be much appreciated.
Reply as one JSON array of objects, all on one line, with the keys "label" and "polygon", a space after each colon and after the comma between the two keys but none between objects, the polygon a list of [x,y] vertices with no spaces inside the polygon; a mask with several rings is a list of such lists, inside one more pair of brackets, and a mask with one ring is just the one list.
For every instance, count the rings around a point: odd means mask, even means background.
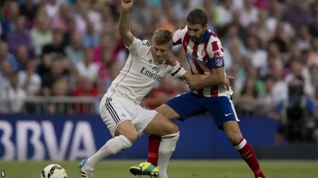
[{"label": "white soccer ball with dark markings on the grass", "polygon": [[40,178],[67,178],[67,174],[62,166],[51,164],[45,167],[41,173]]}]

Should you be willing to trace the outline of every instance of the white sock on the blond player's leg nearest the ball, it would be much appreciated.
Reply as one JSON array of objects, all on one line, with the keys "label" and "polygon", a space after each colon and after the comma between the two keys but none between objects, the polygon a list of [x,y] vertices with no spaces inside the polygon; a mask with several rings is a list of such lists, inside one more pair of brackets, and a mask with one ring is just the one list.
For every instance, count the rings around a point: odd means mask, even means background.
[{"label": "white sock on the blond player's leg nearest the ball", "polygon": [[115,155],[121,150],[130,148],[133,145],[124,135],[115,136],[108,140],[92,157],[88,158],[85,168],[94,170],[95,166],[104,158]]}]

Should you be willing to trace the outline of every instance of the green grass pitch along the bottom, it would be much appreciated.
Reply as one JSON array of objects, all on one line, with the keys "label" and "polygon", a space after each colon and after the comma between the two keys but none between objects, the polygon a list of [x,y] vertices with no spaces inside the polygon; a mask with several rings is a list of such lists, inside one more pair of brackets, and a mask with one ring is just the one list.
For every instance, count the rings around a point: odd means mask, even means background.
[{"label": "green grass pitch along the bottom", "polygon": [[[128,171],[130,166],[141,161],[103,161],[95,169],[94,178],[139,178]],[[57,161],[0,161],[0,171],[5,178],[40,178],[42,169],[49,164],[59,164],[68,173],[68,178],[80,178],[79,162]],[[318,161],[261,161],[267,178],[318,178]],[[169,163],[169,178],[254,178],[242,160],[232,161],[183,161]],[[148,178],[148,177],[142,177]]]}]

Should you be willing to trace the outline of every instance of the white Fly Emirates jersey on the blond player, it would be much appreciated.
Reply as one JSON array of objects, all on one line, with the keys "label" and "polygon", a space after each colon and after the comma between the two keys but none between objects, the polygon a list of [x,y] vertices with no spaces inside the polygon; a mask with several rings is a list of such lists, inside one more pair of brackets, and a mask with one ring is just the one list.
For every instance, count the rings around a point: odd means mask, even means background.
[{"label": "white Fly Emirates jersey on the blond player", "polygon": [[130,52],[128,60],[105,96],[139,105],[165,74],[179,78],[186,73],[179,63],[174,66],[159,64],[153,58],[151,45],[148,40],[135,38],[130,47],[126,46]]}]

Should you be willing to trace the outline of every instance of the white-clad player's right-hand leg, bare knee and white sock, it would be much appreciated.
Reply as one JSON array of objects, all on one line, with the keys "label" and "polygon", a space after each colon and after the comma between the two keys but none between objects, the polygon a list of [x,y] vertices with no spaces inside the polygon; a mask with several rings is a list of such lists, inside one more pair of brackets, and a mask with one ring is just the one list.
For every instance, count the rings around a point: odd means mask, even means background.
[{"label": "white-clad player's right-hand leg, bare knee and white sock", "polygon": [[144,133],[161,137],[158,151],[159,178],[167,178],[168,162],[179,139],[178,127],[157,113],[145,128]]}]

